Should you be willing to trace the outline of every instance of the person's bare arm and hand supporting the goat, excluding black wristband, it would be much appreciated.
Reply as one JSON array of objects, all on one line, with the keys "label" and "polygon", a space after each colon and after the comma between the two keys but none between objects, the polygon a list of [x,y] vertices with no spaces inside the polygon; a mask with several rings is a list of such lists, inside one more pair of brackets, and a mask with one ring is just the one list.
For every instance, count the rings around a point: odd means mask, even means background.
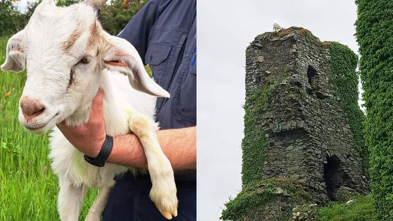
[{"label": "person's bare arm and hand supporting the goat, excluding black wristband", "polygon": [[[89,157],[97,157],[106,136],[102,91],[100,90],[93,100],[92,113],[86,125],[67,127],[60,123],[57,127],[76,149]],[[157,131],[157,136],[174,171],[196,169],[196,126]],[[115,136],[107,162],[147,168],[143,147],[135,134]]]}]

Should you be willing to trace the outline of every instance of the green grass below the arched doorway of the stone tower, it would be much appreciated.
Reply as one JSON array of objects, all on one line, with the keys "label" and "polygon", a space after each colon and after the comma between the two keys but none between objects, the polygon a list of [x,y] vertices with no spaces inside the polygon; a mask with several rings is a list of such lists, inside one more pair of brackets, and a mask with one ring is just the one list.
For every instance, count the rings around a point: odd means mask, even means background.
[{"label": "green grass below the arched doorway of the stone tower", "polygon": [[369,195],[354,198],[354,203],[332,202],[324,206],[317,221],[378,221],[373,217],[371,197]]}]

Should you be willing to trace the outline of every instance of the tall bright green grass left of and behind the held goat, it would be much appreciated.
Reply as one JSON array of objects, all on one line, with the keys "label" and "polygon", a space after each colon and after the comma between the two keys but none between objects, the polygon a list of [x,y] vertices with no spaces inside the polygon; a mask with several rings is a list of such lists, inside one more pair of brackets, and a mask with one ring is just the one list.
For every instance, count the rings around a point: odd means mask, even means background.
[{"label": "tall bright green grass left of and behind the held goat", "polygon": [[[6,59],[6,45],[7,39],[0,37],[0,64]],[[30,134],[18,123],[25,81],[26,71],[0,70],[0,220],[55,221],[59,185],[47,157],[47,136]],[[84,220],[96,194],[89,190],[79,220]]]}]

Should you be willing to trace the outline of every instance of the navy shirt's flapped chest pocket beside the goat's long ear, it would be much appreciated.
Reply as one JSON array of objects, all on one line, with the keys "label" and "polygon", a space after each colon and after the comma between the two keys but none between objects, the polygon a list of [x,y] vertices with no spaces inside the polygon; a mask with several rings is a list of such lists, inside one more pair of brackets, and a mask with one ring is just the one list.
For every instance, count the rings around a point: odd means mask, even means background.
[{"label": "navy shirt's flapped chest pocket beside the goat's long ear", "polygon": [[165,69],[167,68],[168,60],[167,57],[171,52],[172,44],[165,42],[152,42],[147,47],[145,55],[145,63],[149,64],[152,72],[154,73],[154,79],[160,81]]}]

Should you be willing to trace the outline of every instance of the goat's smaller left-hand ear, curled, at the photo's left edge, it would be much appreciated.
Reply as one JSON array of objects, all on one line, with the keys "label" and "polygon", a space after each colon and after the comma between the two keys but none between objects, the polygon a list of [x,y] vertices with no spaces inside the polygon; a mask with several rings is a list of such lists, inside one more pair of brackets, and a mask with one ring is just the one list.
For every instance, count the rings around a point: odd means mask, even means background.
[{"label": "goat's smaller left-hand ear, curled, at the photo's left edge", "polygon": [[21,72],[25,68],[25,54],[21,42],[23,30],[16,33],[7,43],[6,61],[0,67],[3,71]]}]

